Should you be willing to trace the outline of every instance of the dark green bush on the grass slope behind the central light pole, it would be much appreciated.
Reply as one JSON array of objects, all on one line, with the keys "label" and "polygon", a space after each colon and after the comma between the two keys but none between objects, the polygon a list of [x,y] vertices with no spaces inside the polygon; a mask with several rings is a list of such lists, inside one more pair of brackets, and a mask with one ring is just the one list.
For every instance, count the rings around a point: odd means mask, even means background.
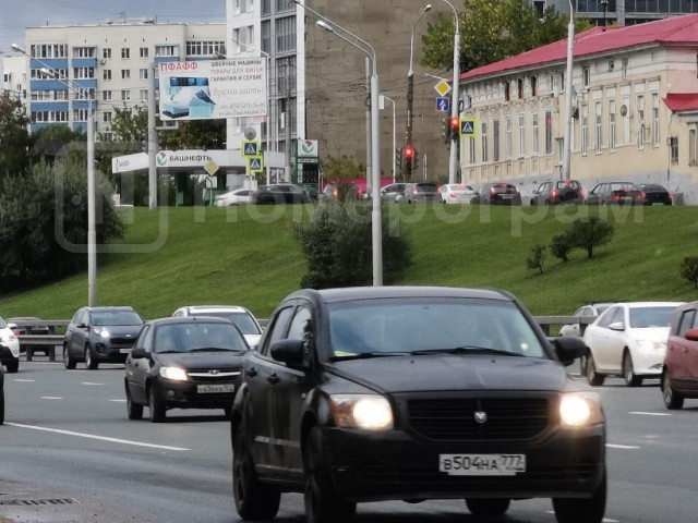
[{"label": "dark green bush on the grass slope behind the central light pole", "polygon": [[[301,287],[370,285],[373,282],[371,207],[363,203],[328,200],[317,205],[306,221],[293,226],[293,234],[308,259]],[[411,264],[411,245],[404,235],[390,234],[383,214],[383,279],[397,280]]]}]

